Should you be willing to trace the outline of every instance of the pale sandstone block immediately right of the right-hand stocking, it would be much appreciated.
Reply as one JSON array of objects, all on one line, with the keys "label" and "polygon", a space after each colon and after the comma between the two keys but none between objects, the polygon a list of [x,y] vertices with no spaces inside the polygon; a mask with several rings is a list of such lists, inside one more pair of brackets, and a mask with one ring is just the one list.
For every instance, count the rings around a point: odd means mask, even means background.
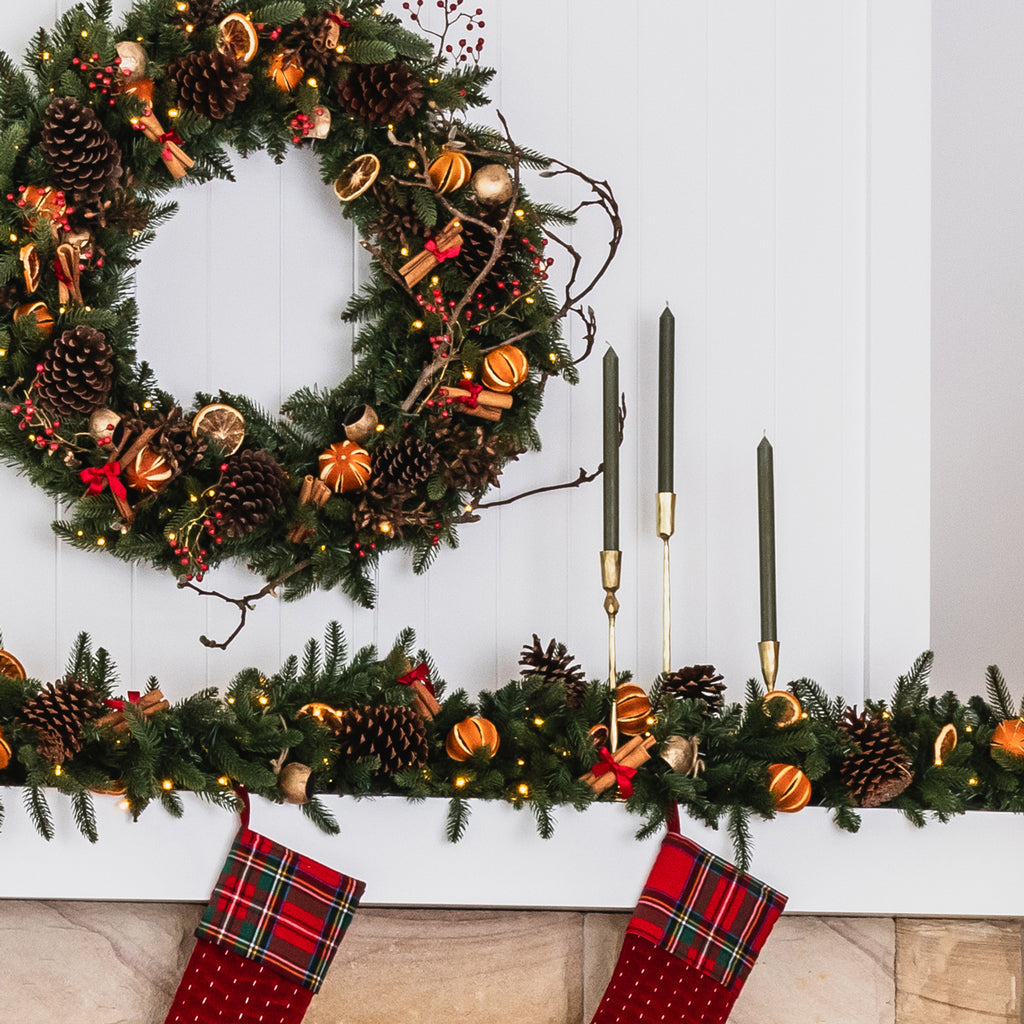
[{"label": "pale sandstone block immediately right of the right-hand stocking", "polygon": [[894,958],[890,918],[783,914],[730,1024],[894,1024]]}]

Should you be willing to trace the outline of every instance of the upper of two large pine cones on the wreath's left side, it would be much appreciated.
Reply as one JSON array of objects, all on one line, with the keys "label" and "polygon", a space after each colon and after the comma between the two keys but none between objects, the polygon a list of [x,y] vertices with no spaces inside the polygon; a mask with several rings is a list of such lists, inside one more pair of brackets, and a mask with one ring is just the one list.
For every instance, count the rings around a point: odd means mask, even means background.
[{"label": "upper of two large pine cones on the wreath's left side", "polygon": [[73,96],[51,99],[43,114],[39,147],[53,178],[76,200],[113,188],[121,177],[121,151],[91,106]]}]

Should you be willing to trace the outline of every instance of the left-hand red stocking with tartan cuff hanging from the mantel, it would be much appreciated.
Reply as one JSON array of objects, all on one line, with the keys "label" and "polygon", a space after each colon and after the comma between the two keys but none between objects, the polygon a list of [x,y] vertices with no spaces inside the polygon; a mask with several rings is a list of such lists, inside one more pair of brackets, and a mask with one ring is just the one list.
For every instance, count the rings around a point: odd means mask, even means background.
[{"label": "left-hand red stocking with tartan cuff hanging from the mantel", "polygon": [[364,883],[243,827],[164,1024],[300,1024]]}]

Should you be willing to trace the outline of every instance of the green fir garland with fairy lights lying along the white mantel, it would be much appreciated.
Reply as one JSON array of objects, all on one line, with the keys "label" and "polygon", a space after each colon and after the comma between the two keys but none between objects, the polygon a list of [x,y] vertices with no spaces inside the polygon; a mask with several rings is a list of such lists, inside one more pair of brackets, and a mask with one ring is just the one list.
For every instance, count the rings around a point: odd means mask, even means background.
[{"label": "green fir garland with fairy lights lying along the white mantel", "polygon": [[[471,798],[505,800],[528,809],[543,837],[554,831],[559,807],[584,810],[595,800],[613,799],[614,787],[598,796],[583,780],[601,761],[593,727],[607,722],[610,714],[605,682],[581,682],[568,701],[563,681],[536,673],[476,697],[462,690],[445,695],[429,654],[415,652],[414,647],[413,632],[407,630],[384,658],[373,647],[350,653],[340,628],[332,624],[323,642],[310,640],[301,657],[288,658],[274,673],[247,669],[223,695],[216,689],[200,690],[151,715],[140,710],[144,699],[128,700],[123,706],[122,731],[95,719],[74,725],[79,749],[73,754],[66,751],[56,763],[42,740],[61,723],[46,721],[46,714],[54,715],[52,707],[45,714],[38,711],[40,694],[52,688],[0,675],[0,737],[12,755],[0,771],[0,783],[25,787],[26,805],[47,839],[53,835],[47,791],[63,794],[72,801],[79,827],[93,841],[95,793],[116,793],[99,799],[122,800],[135,817],[152,803],[180,816],[180,791],[233,808],[232,790],[241,784],[281,802],[285,796],[278,771],[284,771],[283,764],[304,770],[308,766],[310,794],[447,799],[453,842],[466,829]],[[411,674],[413,662],[421,667]],[[919,826],[928,814],[945,821],[972,809],[1024,812],[1020,721],[1024,707],[1011,698],[995,667],[988,670],[985,697],[976,695],[965,702],[952,692],[932,695],[931,663],[931,654],[923,654],[899,677],[888,700],[865,705],[867,717],[885,722],[905,759],[906,784],[902,792],[888,794],[891,799],[883,801],[885,806],[901,811]],[[9,672],[10,664],[16,663],[0,658],[0,668],[4,664]],[[433,718],[417,716],[425,744],[415,757],[406,758],[404,766],[388,770],[388,755],[381,752],[395,745],[397,730],[403,727],[401,717],[394,716],[406,713],[408,721],[413,714],[410,709],[417,693],[408,683],[416,677],[433,680],[439,709]],[[110,656],[101,648],[94,650],[85,634],[69,658],[63,684],[70,680],[97,697],[111,698],[117,687]],[[624,676],[622,682],[626,681]],[[150,681],[151,690],[156,685],[156,680]],[[788,725],[786,709],[779,707],[788,705],[788,699],[773,701],[766,710],[764,691],[754,680],[745,684],[741,702],[720,707],[699,697],[680,698],[667,678],[655,680],[646,723],[655,741],[652,757],[632,775],[632,795],[625,802],[625,809],[642,819],[638,838],[662,827],[667,806],[677,802],[695,820],[715,828],[725,824],[737,862],[749,864],[749,821],[752,815],[776,814],[778,795],[771,792],[770,778],[772,766],[779,764],[806,773],[812,803],[830,808],[840,828],[856,831],[860,819],[849,766],[864,755],[864,740],[845,727],[850,712],[841,697],[829,696],[809,679],[793,682],[786,692],[803,708],[802,717]],[[386,715],[368,727],[376,731],[376,738],[357,734],[346,738],[337,728],[329,728],[323,717],[309,713],[325,706],[341,720],[351,716],[356,733],[360,721],[373,719],[375,709]],[[493,755],[489,749],[477,750],[466,760],[453,760],[452,730],[471,716],[493,723],[498,750]],[[389,722],[396,730],[393,735],[387,735]],[[67,730],[69,724],[62,727]],[[940,737],[948,737],[951,729],[958,742],[950,749]],[[664,756],[676,737],[695,737],[702,770],[681,774],[670,767]],[[302,804],[302,810],[324,829],[337,830],[315,796]]]}]

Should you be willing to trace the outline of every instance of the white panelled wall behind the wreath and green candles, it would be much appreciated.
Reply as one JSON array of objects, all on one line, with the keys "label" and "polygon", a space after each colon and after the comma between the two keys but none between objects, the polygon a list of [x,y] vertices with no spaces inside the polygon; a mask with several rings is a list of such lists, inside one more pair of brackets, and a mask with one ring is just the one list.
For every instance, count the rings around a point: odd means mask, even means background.
[{"label": "white panelled wall behind the wreath and green candles", "polygon": [[[757,672],[755,450],[767,432],[780,679],[809,676],[851,700],[888,692],[929,643],[930,4],[485,6],[493,94],[513,134],[607,178],[622,206],[618,257],[587,300],[602,347],[620,353],[629,408],[620,666],[645,685],[660,668],[656,333],[668,301],[674,660],[714,663],[737,697]],[[20,52],[59,8],[5,10],[0,44]],[[350,367],[338,313],[360,250],[302,155],[282,167],[239,160],[237,173],[180,190],[181,212],[138,273],[139,349],[183,400],[223,387],[276,406]],[[561,179],[534,190],[583,198]],[[573,232],[595,261],[605,239],[591,221]],[[549,387],[544,452],[509,468],[502,496],[600,461],[601,354],[579,387]],[[230,632],[230,608],[57,545],[52,503],[9,470],[0,481],[0,629],[43,679],[87,630],[126,687],[155,674],[180,696],[249,665],[276,668],[332,618],[356,646],[386,648],[414,627],[450,685],[470,690],[517,675],[534,632],[563,640],[589,675],[606,670],[599,484],[484,513],[423,577],[388,556],[373,610],[337,594],[263,601],[225,652],[197,638]],[[210,579],[257,589],[232,568]]]}]

